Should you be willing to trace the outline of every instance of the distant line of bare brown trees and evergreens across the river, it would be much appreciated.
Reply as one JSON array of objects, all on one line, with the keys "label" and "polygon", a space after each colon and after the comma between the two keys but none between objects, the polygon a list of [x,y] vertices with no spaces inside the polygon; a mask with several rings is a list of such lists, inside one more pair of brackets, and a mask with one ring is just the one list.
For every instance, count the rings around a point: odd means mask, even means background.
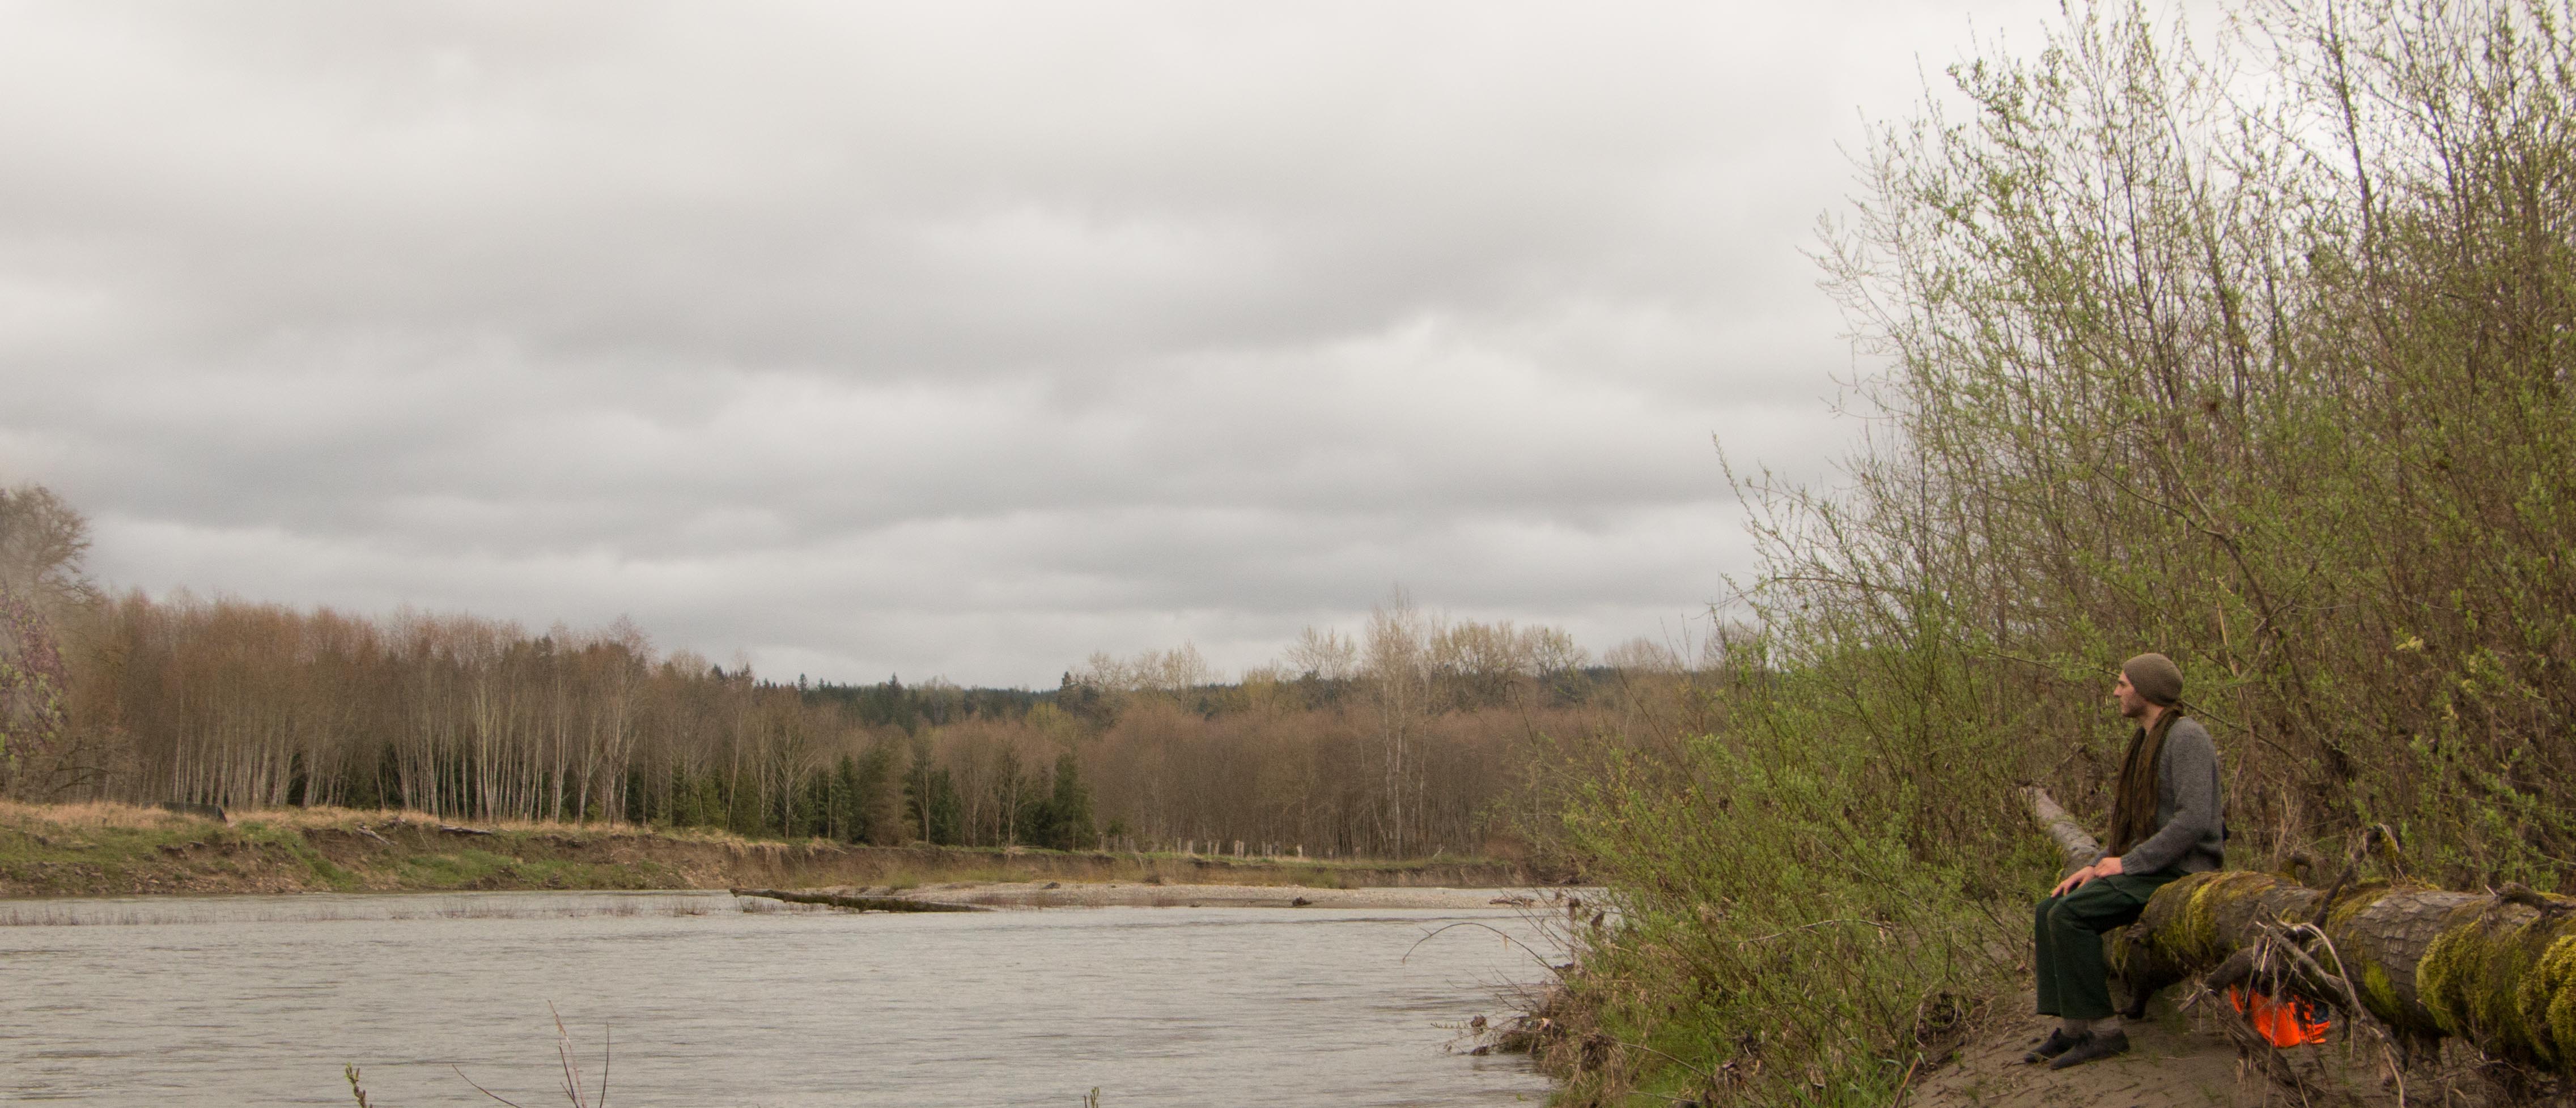
[{"label": "distant line of bare brown trees and evergreens across the river", "polygon": [[[770,683],[631,624],[531,634],[98,595],[85,526],[8,492],[0,783],[26,799],[335,804],[451,819],[724,827],[845,843],[1422,855],[1489,850],[1551,740],[1610,732],[1649,644],[1394,600],[1221,683],[1190,647],[1059,688]],[[49,536],[46,541],[36,541]],[[26,546],[23,551],[18,546]],[[39,567],[41,562],[41,567]]]}]

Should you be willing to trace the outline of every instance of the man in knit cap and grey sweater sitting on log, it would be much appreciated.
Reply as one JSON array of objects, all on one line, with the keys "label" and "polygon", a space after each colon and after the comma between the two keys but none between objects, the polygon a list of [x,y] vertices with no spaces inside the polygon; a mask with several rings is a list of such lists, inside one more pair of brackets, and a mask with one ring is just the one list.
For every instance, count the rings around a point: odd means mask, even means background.
[{"label": "man in knit cap and grey sweater sitting on log", "polygon": [[2166,881],[2226,863],[2218,747],[2200,721],[2182,716],[2182,670],[2164,654],[2130,657],[2112,698],[2138,732],[2120,760],[2110,848],[2058,881],[2030,925],[2040,1015],[2061,1026],[2022,1062],[2048,1069],[2128,1051],[2128,1031],[2110,1008],[2102,933],[2136,922]]}]

